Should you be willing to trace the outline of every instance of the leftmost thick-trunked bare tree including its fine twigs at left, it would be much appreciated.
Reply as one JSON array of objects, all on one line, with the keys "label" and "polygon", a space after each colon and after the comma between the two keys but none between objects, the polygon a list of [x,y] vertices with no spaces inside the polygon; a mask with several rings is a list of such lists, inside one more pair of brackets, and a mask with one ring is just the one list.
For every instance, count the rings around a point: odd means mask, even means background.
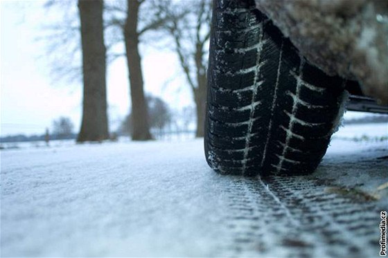
[{"label": "leftmost thick-trunked bare tree including its fine twigs at left", "polygon": [[[83,82],[82,124],[78,141],[108,138],[103,1],[48,0],[60,17],[44,25],[45,57],[55,82]],[[78,7],[78,9],[77,9]]]}]

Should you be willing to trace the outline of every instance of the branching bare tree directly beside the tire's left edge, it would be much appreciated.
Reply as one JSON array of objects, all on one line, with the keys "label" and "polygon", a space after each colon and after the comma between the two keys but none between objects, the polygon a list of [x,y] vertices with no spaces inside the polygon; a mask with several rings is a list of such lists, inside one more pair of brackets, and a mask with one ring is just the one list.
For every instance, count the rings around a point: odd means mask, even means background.
[{"label": "branching bare tree directly beside the tire's left edge", "polygon": [[165,30],[172,37],[179,63],[190,86],[197,113],[196,137],[204,136],[206,68],[209,55],[212,1],[155,2],[165,17]]}]

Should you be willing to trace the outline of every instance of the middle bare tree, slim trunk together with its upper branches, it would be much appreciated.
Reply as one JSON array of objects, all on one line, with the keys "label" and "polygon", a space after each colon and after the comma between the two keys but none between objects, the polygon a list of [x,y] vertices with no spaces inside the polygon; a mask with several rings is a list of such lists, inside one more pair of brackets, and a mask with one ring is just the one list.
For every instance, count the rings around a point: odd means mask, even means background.
[{"label": "middle bare tree, slim trunk together with its upper branches", "polygon": [[[166,22],[166,18],[161,16],[159,10],[149,8],[150,4],[146,6],[147,8],[143,8],[142,12],[141,6],[144,6],[144,3],[152,3],[152,1],[127,0],[126,9],[123,8],[123,1],[116,1],[109,3],[105,9],[109,13],[106,27],[121,28],[123,32],[132,103],[132,140],[152,139],[147,119],[148,107],[145,101],[141,55],[139,53],[141,37],[150,30],[161,28]],[[120,53],[115,53],[112,55],[112,59],[120,55]]]}]

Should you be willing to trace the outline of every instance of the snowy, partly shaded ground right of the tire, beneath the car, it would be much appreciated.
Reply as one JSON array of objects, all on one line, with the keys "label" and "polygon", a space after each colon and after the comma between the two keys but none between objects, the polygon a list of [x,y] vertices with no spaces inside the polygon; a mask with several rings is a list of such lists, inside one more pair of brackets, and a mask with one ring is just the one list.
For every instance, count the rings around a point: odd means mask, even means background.
[{"label": "snowy, partly shaded ground right of the tire, beneath the car", "polygon": [[[376,189],[388,181],[388,124],[347,125],[333,135],[330,147],[315,176],[330,178],[335,184],[357,187],[378,194],[380,207],[387,209],[388,191]],[[338,171],[338,165],[342,173]]]}]

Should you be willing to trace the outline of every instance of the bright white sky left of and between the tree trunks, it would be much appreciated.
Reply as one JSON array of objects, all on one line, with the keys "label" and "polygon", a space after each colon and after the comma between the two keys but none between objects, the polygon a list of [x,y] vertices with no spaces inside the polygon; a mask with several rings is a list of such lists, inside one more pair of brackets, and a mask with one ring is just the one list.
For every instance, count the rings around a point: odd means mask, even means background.
[{"label": "bright white sky left of and between the tree trunks", "polygon": [[[1,1],[1,136],[18,133],[42,134],[60,116],[71,118],[79,131],[82,111],[82,84],[53,82],[44,54],[42,34],[47,11],[45,1]],[[192,95],[174,53],[145,48],[143,76],[146,93],[163,98],[173,109],[193,105]],[[177,77],[177,75],[179,75]],[[178,91],[179,86],[181,90]],[[125,59],[117,59],[107,70],[107,98],[110,130],[130,109]]]}]

